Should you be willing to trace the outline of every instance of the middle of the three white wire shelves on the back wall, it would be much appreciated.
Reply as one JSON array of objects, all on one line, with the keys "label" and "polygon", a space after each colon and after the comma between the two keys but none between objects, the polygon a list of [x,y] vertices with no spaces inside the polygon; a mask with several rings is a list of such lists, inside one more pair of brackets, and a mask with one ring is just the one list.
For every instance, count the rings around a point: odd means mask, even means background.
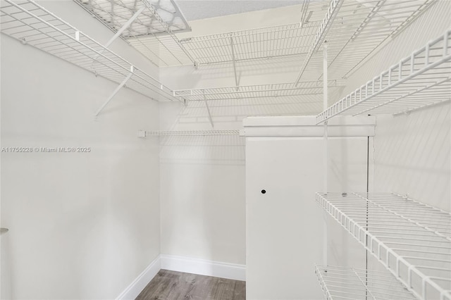
[{"label": "middle of the three white wire shelves on the back wall", "polygon": [[[336,80],[328,81],[328,87],[338,87]],[[296,98],[307,95],[321,95],[323,82],[280,83],[273,85],[242,85],[235,87],[215,87],[208,89],[178,89],[174,96],[189,101],[254,99],[254,98]]]}]

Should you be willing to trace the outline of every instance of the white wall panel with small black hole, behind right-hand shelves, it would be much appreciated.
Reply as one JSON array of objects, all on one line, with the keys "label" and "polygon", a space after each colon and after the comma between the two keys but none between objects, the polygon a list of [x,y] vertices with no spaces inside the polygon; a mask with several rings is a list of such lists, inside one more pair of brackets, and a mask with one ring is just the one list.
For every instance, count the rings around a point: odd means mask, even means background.
[{"label": "white wall panel with small black hole, behind right-hand shelves", "polygon": [[[315,193],[325,189],[321,131],[314,136],[313,126],[296,127],[295,120],[302,117],[288,117],[292,123],[285,127],[283,117],[272,122],[256,119],[260,120],[252,123],[256,130],[245,127],[250,135],[246,138],[247,299],[323,299],[315,264],[364,268],[365,251],[345,230],[333,226],[331,218],[328,238],[323,235],[324,213],[315,201]],[[302,129],[305,137],[274,137],[296,129]],[[367,163],[373,162],[372,156],[367,160],[368,141],[351,135],[329,137],[329,192],[366,192]]]}]

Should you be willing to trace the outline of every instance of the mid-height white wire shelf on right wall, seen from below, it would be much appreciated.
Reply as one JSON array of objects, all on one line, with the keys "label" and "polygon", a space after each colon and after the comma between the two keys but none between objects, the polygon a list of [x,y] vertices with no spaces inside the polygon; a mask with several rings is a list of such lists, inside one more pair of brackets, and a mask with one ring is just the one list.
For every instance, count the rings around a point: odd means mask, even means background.
[{"label": "mid-height white wire shelf on right wall, seen from below", "polygon": [[451,29],[316,116],[402,113],[451,98]]}]

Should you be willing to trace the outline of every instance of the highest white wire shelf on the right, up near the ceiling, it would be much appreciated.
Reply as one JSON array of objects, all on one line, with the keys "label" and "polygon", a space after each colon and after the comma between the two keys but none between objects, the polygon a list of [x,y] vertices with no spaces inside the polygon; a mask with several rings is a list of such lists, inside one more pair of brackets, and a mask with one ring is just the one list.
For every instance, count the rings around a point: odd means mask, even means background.
[{"label": "highest white wire shelf on the right, up near the ceiling", "polygon": [[328,76],[347,78],[378,49],[402,31],[436,0],[333,0],[309,47],[295,82],[319,80],[324,41],[328,44]]}]

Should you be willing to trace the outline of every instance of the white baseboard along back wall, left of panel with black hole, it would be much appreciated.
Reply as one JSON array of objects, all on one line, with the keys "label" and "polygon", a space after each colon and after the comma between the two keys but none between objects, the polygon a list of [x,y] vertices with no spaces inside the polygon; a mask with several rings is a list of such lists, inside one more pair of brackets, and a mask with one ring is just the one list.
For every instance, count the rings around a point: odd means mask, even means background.
[{"label": "white baseboard along back wall, left of panel with black hole", "polygon": [[161,254],[161,268],[233,280],[246,280],[246,265]]}]

